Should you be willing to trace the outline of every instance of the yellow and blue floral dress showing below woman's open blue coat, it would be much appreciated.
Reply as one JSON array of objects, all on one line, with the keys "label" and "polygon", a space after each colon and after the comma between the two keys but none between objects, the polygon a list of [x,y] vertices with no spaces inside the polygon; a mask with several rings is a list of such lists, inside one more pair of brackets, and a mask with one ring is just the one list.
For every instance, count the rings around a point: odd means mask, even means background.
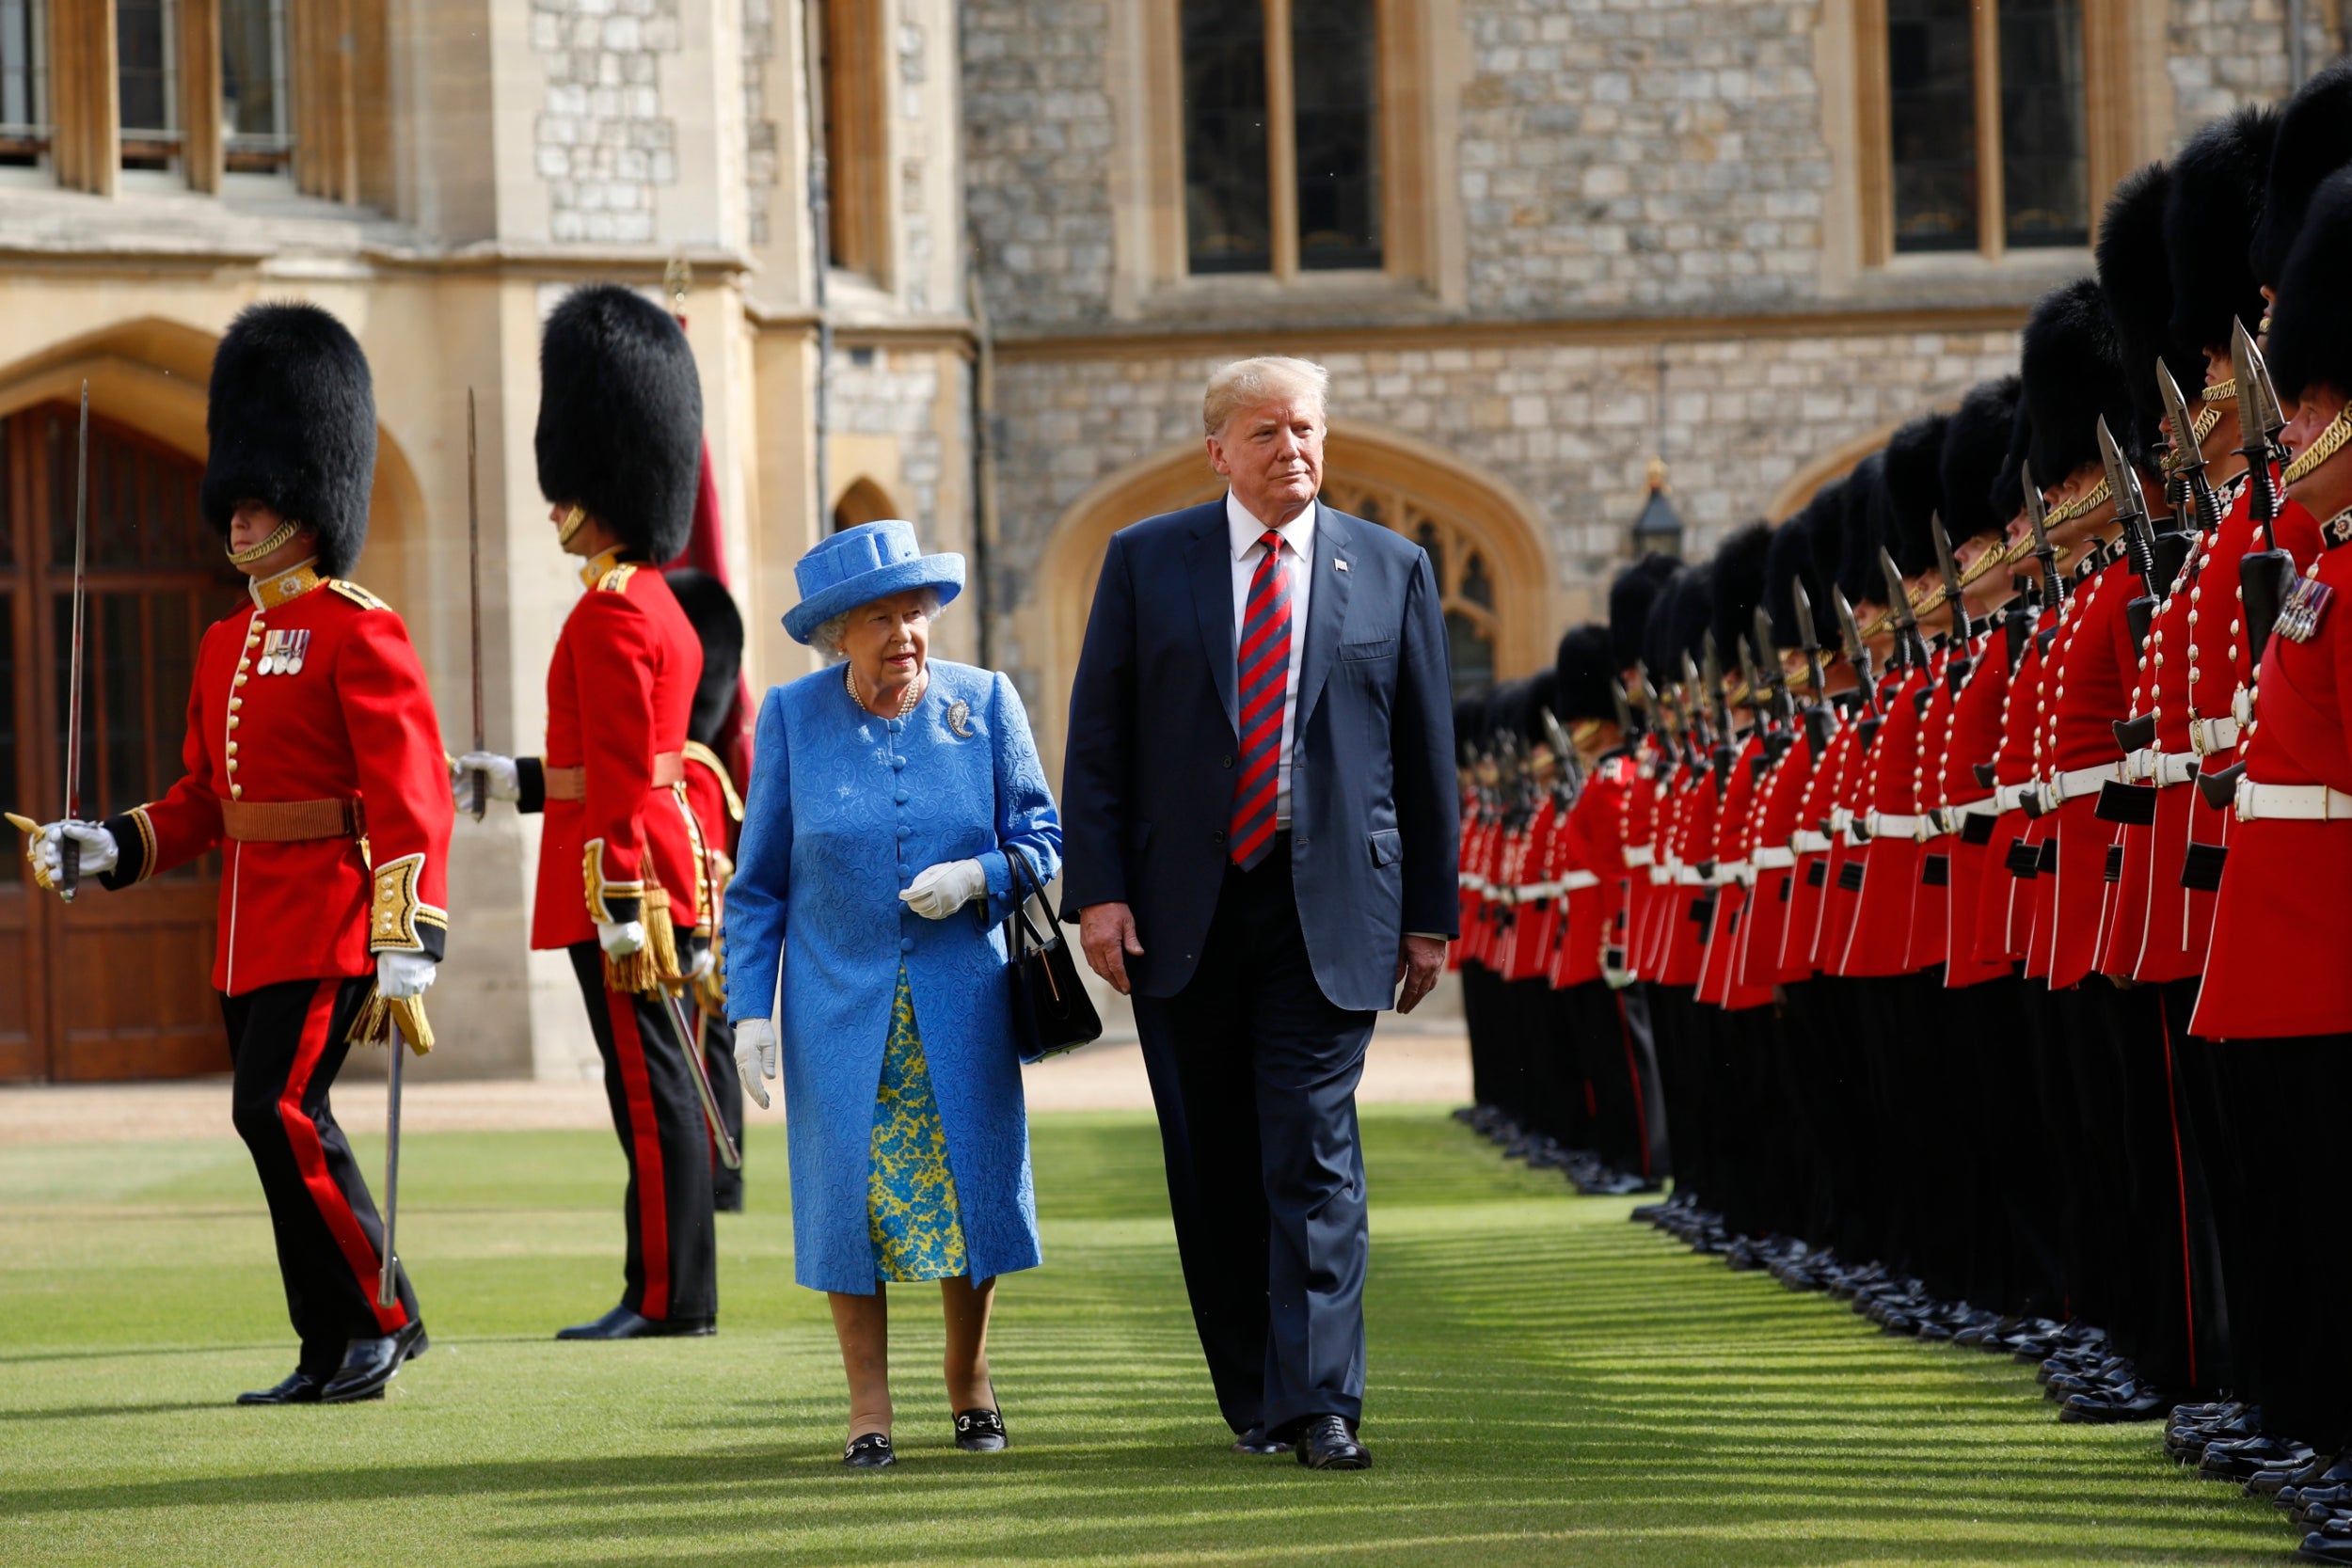
[{"label": "yellow and blue floral dress showing below woman's open blue coat", "polygon": [[915,992],[898,966],[889,1009],[889,1048],[875,1091],[873,1164],[866,1178],[866,1229],[875,1244],[875,1279],[953,1279],[969,1272],[964,1218],[948,1171],[948,1128],[931,1098],[931,1067],[915,1027]]}]

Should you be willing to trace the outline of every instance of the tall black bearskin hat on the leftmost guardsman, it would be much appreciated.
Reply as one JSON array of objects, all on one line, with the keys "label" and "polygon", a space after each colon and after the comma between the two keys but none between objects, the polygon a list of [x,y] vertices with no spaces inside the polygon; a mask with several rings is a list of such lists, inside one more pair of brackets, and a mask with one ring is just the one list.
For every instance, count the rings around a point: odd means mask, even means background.
[{"label": "tall black bearskin hat on the leftmost guardsman", "polygon": [[240,501],[318,531],[318,569],[343,576],[367,543],[376,482],[376,386],[343,322],[318,306],[247,306],[212,353],[205,522],[228,534]]}]

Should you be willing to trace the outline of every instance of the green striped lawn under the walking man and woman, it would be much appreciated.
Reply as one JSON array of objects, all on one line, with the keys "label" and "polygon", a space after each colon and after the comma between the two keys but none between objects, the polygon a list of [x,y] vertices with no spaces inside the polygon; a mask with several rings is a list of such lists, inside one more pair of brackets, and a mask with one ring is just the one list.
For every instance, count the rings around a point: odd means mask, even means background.
[{"label": "green striped lawn under the walking man and woman", "polygon": [[[2060,1427],[2027,1368],[1877,1335],[1371,1110],[1376,1469],[1223,1450],[1150,1117],[1037,1119],[1047,1267],[1000,1293],[1014,1448],[960,1455],[929,1288],[898,1450],[835,1462],[781,1147],[720,1218],[713,1340],[555,1345],[619,1293],[609,1135],[419,1135],[433,1354],[376,1406],[238,1410],[292,1342],[233,1140],[0,1150],[0,1563],[2260,1561],[2277,1514],[2157,1434]],[[372,1171],[381,1147],[362,1150]]]}]

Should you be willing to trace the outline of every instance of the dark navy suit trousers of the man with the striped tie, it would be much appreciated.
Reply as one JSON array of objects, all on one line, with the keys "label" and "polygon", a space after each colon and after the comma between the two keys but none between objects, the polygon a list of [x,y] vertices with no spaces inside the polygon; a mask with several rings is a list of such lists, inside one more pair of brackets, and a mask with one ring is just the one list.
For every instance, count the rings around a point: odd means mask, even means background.
[{"label": "dark navy suit trousers of the man with the striped tie", "polygon": [[1225,867],[1185,987],[1134,1001],[1225,1425],[1289,1434],[1341,1415],[1355,1427],[1371,1251],[1355,1086],[1374,1013],[1331,1006],[1315,983],[1289,835],[1254,870]]}]

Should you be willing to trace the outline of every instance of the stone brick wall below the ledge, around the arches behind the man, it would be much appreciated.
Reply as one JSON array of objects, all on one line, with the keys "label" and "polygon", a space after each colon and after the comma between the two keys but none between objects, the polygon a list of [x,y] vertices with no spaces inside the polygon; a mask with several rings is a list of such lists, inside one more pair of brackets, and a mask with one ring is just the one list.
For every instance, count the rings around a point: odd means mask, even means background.
[{"label": "stone brick wall below the ledge, around the arches behind the man", "polygon": [[[1658,449],[1656,343],[1526,343],[1322,355],[1331,411],[1385,425],[1494,475],[1529,520],[1571,602],[1588,614],[1625,552]],[[1011,618],[1037,581],[1054,524],[1103,475],[1200,440],[1200,390],[1223,355],[1021,360],[997,369],[1011,433],[1000,463],[997,661],[1044,698],[1042,649]],[[1672,498],[1700,559],[1802,468],[1849,440],[1950,407],[2016,369],[2016,334],[1896,334],[1696,341],[1668,348],[1663,447]],[[1068,675],[1068,672],[1061,672]]]}]

